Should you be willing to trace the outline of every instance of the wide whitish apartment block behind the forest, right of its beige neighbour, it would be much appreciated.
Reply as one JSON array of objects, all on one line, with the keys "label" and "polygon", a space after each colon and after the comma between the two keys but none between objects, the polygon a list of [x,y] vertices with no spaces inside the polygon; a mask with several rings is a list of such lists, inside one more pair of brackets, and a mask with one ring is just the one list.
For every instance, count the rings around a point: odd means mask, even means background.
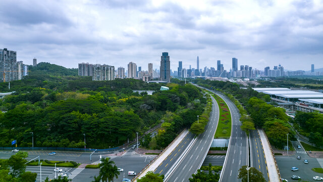
[{"label": "wide whitish apartment block behind the forest, right of its beige neighbour", "polygon": [[103,81],[103,80],[114,80],[116,70],[114,66],[95,64],[92,66],[92,80]]}]

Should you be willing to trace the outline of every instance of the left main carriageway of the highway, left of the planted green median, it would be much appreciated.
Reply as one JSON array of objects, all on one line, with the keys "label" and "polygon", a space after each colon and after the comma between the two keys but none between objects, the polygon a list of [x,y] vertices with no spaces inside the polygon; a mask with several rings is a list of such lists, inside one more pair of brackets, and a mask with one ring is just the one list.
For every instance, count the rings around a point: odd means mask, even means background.
[{"label": "left main carriageway of the highway, left of the planted green median", "polygon": [[217,129],[219,121],[219,106],[216,100],[212,98],[212,112],[210,113],[209,121],[205,126],[205,131],[198,135],[193,141],[192,147],[183,155],[176,166],[173,166],[168,175],[165,176],[164,181],[188,181],[192,174],[199,169],[204,161],[209,147],[214,139],[214,134]]}]

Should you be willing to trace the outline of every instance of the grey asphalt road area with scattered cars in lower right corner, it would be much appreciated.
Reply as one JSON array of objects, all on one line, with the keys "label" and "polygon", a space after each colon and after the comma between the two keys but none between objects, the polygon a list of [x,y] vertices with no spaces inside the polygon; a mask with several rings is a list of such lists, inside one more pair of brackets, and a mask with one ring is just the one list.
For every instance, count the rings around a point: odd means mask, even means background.
[{"label": "grey asphalt road area with scattered cars in lower right corner", "polygon": [[[318,160],[316,158],[311,158],[310,156],[308,156],[303,147],[301,147],[301,149],[298,149],[297,146],[300,146],[300,143],[298,141],[292,142],[292,144],[296,150],[295,155],[275,156],[282,178],[285,178],[288,181],[296,181],[292,179],[291,176],[298,175],[302,180],[314,181],[313,176],[323,177],[323,174],[311,170],[311,168],[314,167],[321,167]],[[297,159],[297,156],[300,156],[301,159]],[[308,164],[304,163],[305,159],[308,160]],[[292,167],[297,167],[299,168],[299,170],[292,171]]]}]

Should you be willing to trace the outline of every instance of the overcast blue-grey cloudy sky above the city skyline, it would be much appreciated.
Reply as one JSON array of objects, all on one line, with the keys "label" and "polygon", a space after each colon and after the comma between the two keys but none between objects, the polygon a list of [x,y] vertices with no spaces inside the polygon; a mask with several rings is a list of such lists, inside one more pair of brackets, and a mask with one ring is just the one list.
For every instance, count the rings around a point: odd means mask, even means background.
[{"label": "overcast blue-grey cloudy sky above the city skyline", "polygon": [[232,57],[263,70],[323,67],[323,1],[1,1],[0,49],[17,51],[17,61],[78,63],[147,70],[168,52],[171,69],[225,69]]}]

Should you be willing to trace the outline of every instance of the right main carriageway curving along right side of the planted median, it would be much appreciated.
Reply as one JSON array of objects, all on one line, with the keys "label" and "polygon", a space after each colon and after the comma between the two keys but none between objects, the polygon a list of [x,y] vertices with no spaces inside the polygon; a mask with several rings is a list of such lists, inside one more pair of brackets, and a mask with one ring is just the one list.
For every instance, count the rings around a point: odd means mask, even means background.
[{"label": "right main carriageway curving along right side of the planted median", "polygon": [[239,110],[225,95],[214,90],[209,91],[217,94],[227,103],[232,118],[232,130],[229,148],[227,151],[224,168],[221,172],[220,181],[228,181],[228,179],[230,179],[230,181],[241,181],[241,179],[238,179],[238,170],[241,168],[241,166],[248,165],[248,156],[247,137],[246,133],[240,128],[241,122],[239,120]]}]

